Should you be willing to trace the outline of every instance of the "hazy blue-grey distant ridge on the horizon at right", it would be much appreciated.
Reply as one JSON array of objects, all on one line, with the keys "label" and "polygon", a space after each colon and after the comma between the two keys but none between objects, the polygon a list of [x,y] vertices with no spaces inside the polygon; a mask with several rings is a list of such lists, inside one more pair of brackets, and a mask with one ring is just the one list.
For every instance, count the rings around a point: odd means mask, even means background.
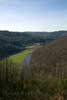
[{"label": "hazy blue-grey distant ridge on the horizon at right", "polygon": [[67,36],[67,31],[54,31],[54,32],[25,32],[33,36],[40,36],[42,38],[59,38]]}]

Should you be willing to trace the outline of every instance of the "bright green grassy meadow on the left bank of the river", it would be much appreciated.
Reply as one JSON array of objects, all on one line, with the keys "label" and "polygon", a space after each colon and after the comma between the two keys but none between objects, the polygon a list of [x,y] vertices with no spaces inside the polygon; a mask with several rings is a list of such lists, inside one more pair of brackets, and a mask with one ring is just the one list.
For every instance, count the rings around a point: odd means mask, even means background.
[{"label": "bright green grassy meadow on the left bank of the river", "polygon": [[26,49],[18,54],[12,55],[9,57],[10,60],[14,63],[22,64],[25,57],[32,52],[32,49]]}]

